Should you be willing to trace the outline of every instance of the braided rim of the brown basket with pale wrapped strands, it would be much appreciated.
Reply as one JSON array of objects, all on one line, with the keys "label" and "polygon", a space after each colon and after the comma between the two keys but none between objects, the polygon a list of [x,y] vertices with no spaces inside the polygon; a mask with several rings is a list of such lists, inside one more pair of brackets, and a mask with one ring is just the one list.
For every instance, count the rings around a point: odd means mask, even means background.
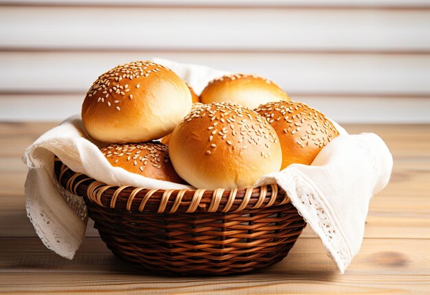
[{"label": "braided rim of the brown basket with pale wrapped strands", "polygon": [[107,185],[73,172],[55,158],[55,176],[66,191],[87,198],[100,207],[154,213],[238,213],[288,204],[278,185],[243,189],[145,189]]}]

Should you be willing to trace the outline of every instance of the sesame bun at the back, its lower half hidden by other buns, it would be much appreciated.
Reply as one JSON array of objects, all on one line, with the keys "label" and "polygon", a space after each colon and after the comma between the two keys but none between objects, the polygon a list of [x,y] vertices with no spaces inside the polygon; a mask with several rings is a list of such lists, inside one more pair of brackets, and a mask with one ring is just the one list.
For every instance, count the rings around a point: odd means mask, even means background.
[{"label": "sesame bun at the back, its lower half hidden by other buns", "polygon": [[290,101],[277,84],[258,75],[234,74],[212,80],[200,95],[203,104],[233,102],[247,108],[257,108],[267,102]]}]

